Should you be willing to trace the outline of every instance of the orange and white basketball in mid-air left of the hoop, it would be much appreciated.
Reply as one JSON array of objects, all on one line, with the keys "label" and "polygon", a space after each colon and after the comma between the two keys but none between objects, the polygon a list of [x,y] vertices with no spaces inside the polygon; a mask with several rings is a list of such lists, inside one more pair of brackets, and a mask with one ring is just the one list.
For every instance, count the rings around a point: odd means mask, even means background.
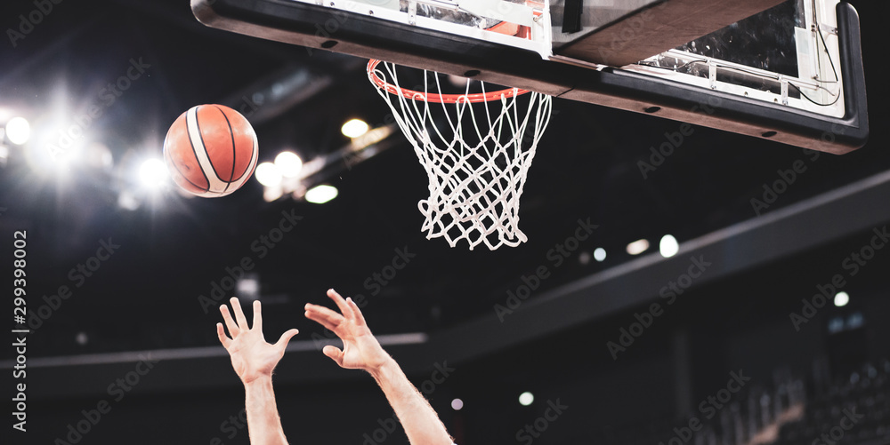
[{"label": "orange and white basketball in mid-air left of the hoop", "polygon": [[256,166],[256,133],[239,112],[198,105],[182,113],[164,139],[164,162],[174,182],[205,198],[230,195]]}]

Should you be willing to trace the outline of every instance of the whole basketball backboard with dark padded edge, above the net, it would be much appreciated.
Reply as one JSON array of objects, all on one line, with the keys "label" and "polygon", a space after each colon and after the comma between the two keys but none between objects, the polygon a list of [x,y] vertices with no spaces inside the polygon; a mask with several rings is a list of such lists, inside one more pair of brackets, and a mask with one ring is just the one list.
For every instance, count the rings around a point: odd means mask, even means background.
[{"label": "whole basketball backboard with dark padded edge, above the net", "polygon": [[869,136],[838,0],[192,0],[202,23],[843,154]]}]

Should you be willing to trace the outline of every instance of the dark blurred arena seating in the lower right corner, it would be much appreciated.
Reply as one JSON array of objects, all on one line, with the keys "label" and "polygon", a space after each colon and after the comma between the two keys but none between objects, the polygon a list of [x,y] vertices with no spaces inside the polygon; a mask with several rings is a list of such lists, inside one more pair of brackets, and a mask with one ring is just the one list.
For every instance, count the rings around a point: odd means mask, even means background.
[{"label": "dark blurred arena seating in the lower right corner", "polygon": [[[852,370],[831,376],[829,361],[819,359],[807,377],[778,369],[771,387],[743,388],[710,419],[697,411],[680,419],[604,428],[595,440],[624,445],[890,444],[890,359],[845,368]],[[691,424],[693,417],[701,424]],[[690,425],[699,427],[692,431]]]}]

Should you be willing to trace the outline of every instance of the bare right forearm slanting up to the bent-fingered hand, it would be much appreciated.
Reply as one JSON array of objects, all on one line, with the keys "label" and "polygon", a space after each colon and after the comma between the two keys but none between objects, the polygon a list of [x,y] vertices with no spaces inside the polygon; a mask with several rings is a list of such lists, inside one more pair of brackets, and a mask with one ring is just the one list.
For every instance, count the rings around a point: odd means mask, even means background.
[{"label": "bare right forearm slanting up to the bent-fingered hand", "polygon": [[411,445],[451,445],[451,436],[425,397],[411,384],[399,364],[387,360],[371,372],[399,417]]}]

